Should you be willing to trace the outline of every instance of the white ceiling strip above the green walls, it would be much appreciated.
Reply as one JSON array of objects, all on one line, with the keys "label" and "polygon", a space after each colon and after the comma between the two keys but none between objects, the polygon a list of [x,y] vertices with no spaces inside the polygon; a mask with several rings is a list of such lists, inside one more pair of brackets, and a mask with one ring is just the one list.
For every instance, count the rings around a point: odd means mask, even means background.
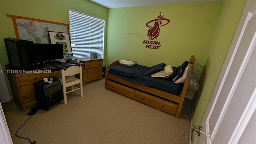
[{"label": "white ceiling strip above the green walls", "polygon": [[212,2],[221,0],[91,0],[107,8],[123,8],[134,6],[157,6],[165,4],[184,4],[195,2]]}]

